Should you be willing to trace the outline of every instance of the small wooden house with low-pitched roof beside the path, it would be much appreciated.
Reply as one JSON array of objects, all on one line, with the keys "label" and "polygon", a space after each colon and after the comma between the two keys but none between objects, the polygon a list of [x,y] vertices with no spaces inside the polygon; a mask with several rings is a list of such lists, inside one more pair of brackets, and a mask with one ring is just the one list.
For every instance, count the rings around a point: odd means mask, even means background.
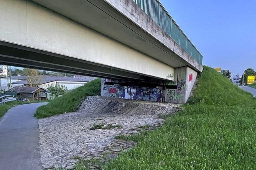
[{"label": "small wooden house with low-pitched roof beside the path", "polygon": [[33,99],[33,100],[46,100],[46,90],[42,87],[12,87],[8,91],[15,91],[17,95],[26,98],[26,99]]}]

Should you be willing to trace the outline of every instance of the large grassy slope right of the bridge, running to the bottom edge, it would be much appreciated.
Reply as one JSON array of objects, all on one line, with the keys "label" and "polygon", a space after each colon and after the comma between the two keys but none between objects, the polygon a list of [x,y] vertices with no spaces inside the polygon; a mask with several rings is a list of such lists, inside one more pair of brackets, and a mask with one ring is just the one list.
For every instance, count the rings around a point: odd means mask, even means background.
[{"label": "large grassy slope right of the bridge, running to the bottom edge", "polygon": [[103,169],[255,169],[256,100],[210,67],[194,98]]}]

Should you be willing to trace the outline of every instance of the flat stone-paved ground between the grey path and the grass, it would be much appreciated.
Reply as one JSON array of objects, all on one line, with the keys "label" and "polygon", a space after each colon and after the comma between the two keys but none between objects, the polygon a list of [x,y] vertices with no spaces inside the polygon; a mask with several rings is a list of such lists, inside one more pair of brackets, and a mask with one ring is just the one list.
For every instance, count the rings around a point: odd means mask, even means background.
[{"label": "flat stone-paved ground between the grey path and the grass", "polygon": [[[162,123],[155,115],[127,115],[114,113],[74,112],[40,119],[40,150],[44,168],[72,168],[83,158],[114,158],[117,154],[134,146],[134,142],[116,140],[120,134],[138,133],[139,126],[159,126]],[[104,124],[104,128],[92,130],[94,125]],[[119,127],[113,127],[113,126]]]}]

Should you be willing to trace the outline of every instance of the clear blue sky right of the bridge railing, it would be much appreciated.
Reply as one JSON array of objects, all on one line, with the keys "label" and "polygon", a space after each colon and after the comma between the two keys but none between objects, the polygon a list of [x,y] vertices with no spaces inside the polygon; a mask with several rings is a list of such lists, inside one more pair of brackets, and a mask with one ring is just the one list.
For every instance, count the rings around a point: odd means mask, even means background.
[{"label": "clear blue sky right of the bridge railing", "polygon": [[204,56],[239,73],[256,69],[256,0],[160,0]]}]

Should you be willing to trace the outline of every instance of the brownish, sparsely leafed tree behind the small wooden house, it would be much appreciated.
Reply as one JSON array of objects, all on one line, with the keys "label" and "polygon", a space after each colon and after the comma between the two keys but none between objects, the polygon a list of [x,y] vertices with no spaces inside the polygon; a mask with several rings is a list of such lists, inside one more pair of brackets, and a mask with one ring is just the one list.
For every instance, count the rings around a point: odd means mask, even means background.
[{"label": "brownish, sparsely leafed tree behind the small wooden house", "polygon": [[23,71],[25,79],[30,87],[37,87],[42,83],[42,76],[38,70],[25,68]]}]

